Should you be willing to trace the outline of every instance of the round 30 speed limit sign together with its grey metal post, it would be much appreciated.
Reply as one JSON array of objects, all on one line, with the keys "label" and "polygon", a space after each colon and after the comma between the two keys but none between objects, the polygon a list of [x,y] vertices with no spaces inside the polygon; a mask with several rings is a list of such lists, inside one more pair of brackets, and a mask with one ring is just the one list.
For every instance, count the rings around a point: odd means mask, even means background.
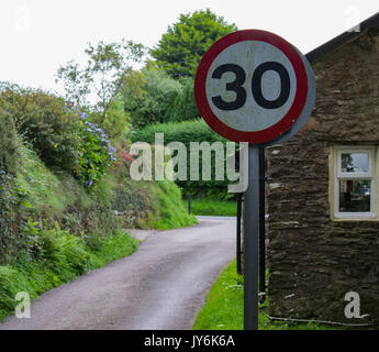
[{"label": "round 30 speed limit sign together with its grey metal post", "polygon": [[265,248],[265,147],[287,141],[305,124],[315,101],[313,70],[282,37],[238,31],[215,42],[202,57],[194,97],[211,129],[249,143],[243,208],[244,328],[257,330],[258,276],[265,283],[265,266],[259,266],[265,253],[258,253]]}]

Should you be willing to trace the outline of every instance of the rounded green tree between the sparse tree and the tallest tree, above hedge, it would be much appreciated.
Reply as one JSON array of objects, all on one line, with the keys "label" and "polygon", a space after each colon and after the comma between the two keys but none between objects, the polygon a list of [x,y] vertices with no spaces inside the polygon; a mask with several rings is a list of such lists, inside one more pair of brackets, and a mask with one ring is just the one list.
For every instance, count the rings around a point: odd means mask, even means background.
[{"label": "rounded green tree between the sparse tree and the tallest tree, above hedge", "polygon": [[166,122],[175,99],[181,92],[180,82],[164,70],[147,65],[141,73],[131,72],[124,80],[124,109],[134,128]]}]

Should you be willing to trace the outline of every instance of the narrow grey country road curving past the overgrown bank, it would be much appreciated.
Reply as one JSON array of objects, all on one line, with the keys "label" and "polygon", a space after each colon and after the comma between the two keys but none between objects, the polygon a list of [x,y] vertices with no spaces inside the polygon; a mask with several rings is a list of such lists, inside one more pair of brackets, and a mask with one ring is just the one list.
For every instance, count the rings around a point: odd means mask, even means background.
[{"label": "narrow grey country road curving past the overgrown bank", "polygon": [[31,318],[2,329],[191,329],[210,286],[235,255],[235,219],[200,217],[149,233],[133,255],[52,289]]}]

